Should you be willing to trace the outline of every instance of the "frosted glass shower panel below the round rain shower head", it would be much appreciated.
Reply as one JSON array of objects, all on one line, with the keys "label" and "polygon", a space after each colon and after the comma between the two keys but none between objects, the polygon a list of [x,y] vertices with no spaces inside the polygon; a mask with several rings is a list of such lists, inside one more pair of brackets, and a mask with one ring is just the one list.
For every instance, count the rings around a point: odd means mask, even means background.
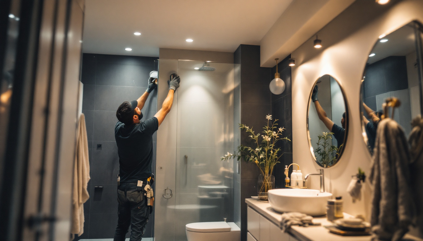
[{"label": "frosted glass shower panel below the round rain shower head", "polygon": [[178,62],[175,240],[187,240],[192,222],[233,222],[234,65]]}]

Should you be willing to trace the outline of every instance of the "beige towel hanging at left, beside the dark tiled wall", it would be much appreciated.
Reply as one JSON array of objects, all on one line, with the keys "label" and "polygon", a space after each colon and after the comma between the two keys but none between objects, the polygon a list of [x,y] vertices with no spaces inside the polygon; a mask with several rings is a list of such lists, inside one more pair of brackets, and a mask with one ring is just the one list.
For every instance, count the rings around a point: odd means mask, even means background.
[{"label": "beige towel hanging at left, beside the dark tiled wall", "polygon": [[74,178],[72,193],[72,227],[71,233],[81,236],[84,233],[84,203],[90,198],[87,190],[90,180],[90,164],[88,160],[87,129],[85,116],[81,114],[77,129],[77,146],[74,161]]}]

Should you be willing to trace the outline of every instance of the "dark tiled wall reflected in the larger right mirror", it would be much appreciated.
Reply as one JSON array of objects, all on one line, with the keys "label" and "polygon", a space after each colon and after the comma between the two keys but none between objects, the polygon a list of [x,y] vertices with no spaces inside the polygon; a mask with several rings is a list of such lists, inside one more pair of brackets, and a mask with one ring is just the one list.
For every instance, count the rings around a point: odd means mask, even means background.
[{"label": "dark tiled wall reflected in the larger right mirror", "polygon": [[376,95],[400,89],[408,89],[405,56],[389,56],[366,66],[363,99],[372,110],[382,108],[376,106]]}]

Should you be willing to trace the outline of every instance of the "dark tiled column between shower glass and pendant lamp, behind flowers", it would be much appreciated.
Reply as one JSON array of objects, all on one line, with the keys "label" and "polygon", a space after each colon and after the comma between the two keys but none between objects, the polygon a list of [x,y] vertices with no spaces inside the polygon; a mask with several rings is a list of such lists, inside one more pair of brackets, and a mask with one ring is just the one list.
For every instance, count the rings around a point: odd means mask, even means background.
[{"label": "dark tiled column between shower glass and pendant lamp, behind flowers", "polygon": [[[269,90],[271,70],[260,67],[260,46],[240,45],[233,55],[233,60],[234,63],[241,64],[241,123],[253,127],[256,132],[261,131],[266,125],[266,115],[272,112]],[[241,131],[241,144],[252,146],[250,138],[244,131]],[[257,178],[260,172],[255,164],[243,160],[240,162],[240,167],[238,180],[241,188],[241,241],[245,241],[247,240],[245,198],[257,196]]]}]

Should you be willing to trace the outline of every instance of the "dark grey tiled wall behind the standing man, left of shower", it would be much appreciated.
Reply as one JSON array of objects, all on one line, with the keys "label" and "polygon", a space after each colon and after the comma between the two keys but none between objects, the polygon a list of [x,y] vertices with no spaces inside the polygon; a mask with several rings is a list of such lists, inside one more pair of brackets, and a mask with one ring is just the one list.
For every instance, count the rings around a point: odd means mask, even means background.
[{"label": "dark grey tiled wall behind the standing man, left of shower", "polygon": [[[88,135],[91,180],[88,183],[90,199],[84,204],[84,233],[80,238],[113,238],[118,220],[117,175],[118,148],[114,127],[116,110],[124,101],[136,100],[147,89],[152,70],[157,70],[157,57],[136,57],[106,54],[83,54],[82,77],[84,84],[82,112]],[[157,112],[157,90],[150,93],[141,110],[144,119]],[[153,136],[154,160],[156,134]],[[101,149],[98,147],[101,145]],[[102,188],[95,188],[102,187]],[[146,227],[144,237],[153,237],[154,214]],[[129,233],[126,235],[129,238]]]}]

